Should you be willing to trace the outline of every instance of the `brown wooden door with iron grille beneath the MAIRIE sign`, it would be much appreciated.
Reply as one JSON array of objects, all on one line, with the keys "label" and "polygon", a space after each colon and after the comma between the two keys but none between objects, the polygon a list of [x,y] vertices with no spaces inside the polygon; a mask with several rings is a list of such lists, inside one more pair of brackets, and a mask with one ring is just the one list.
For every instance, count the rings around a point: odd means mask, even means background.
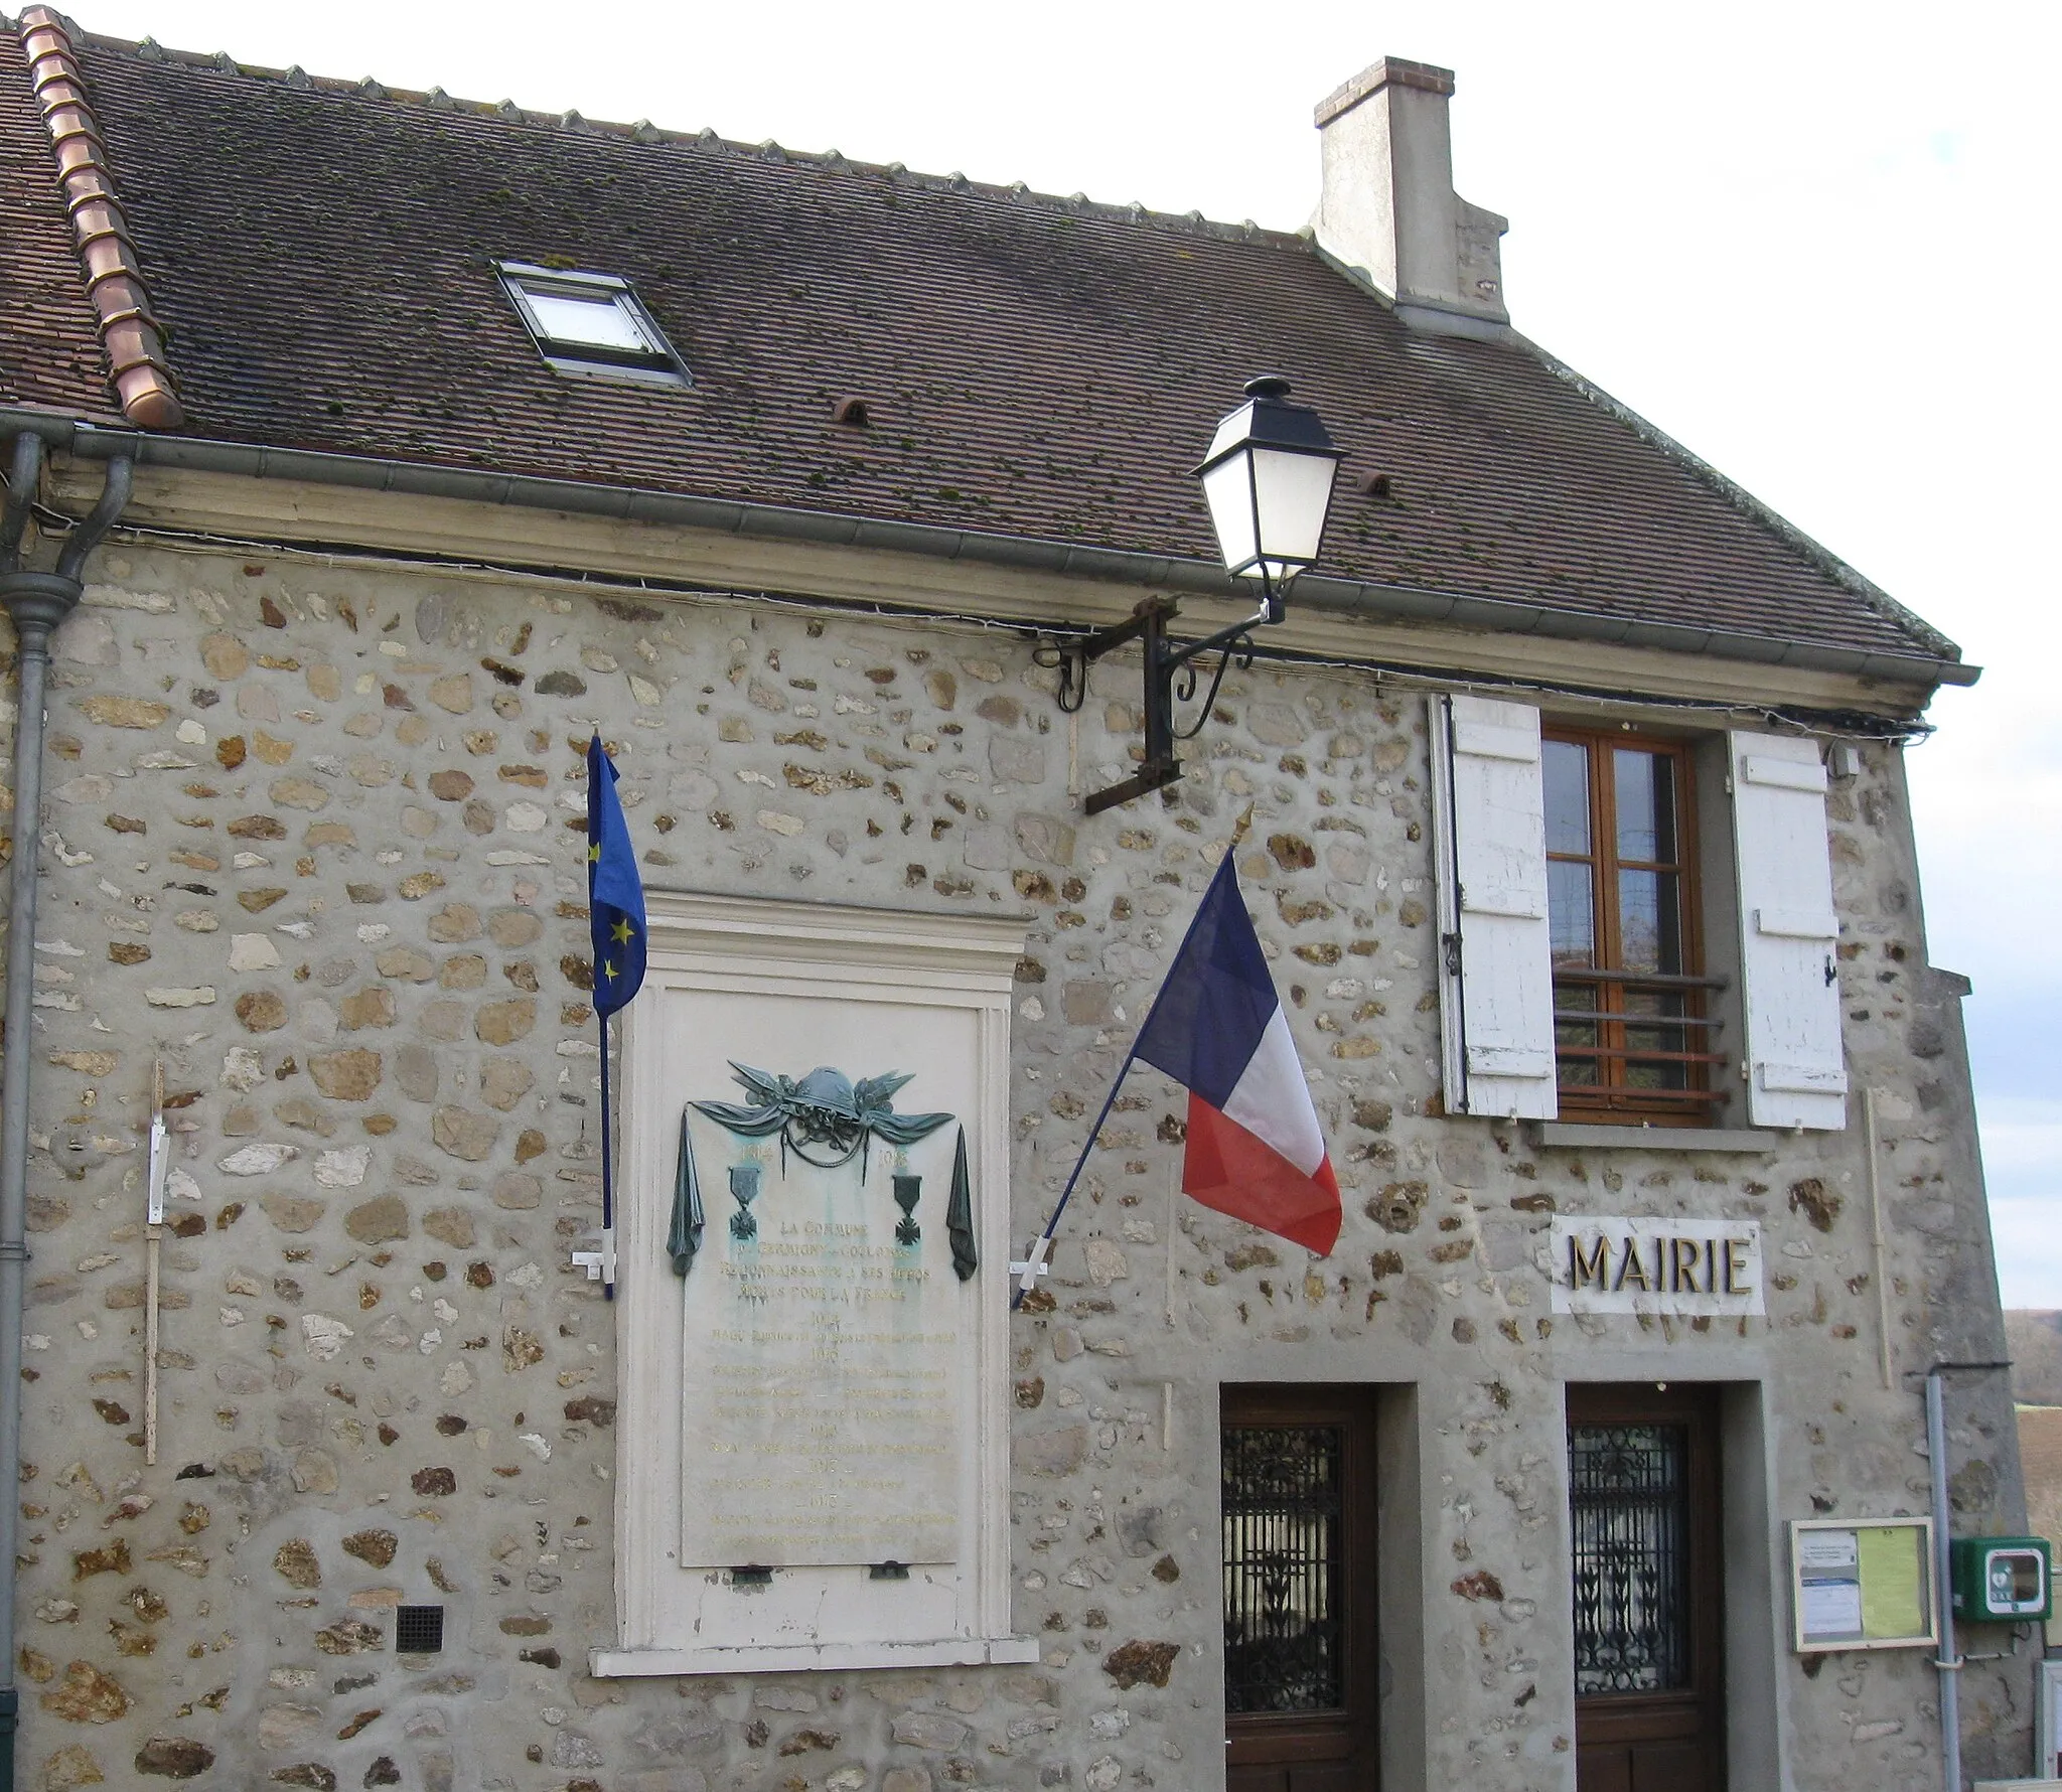
[{"label": "brown wooden door with iron grille beneath the MAIRIE sign", "polygon": [[1567,1390],[1577,1792],[1724,1792],[1718,1404]]}]

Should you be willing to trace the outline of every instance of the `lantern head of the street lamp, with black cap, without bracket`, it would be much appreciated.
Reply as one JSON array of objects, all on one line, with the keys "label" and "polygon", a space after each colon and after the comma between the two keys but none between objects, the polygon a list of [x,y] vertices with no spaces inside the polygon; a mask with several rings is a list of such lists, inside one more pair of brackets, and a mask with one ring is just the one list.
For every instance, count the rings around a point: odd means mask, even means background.
[{"label": "lantern head of the street lamp, with black cap, without bracket", "polygon": [[1225,567],[1270,584],[1318,559],[1342,460],[1316,410],[1283,402],[1287,390],[1287,381],[1256,379],[1252,402],[1217,427],[1200,468]]}]

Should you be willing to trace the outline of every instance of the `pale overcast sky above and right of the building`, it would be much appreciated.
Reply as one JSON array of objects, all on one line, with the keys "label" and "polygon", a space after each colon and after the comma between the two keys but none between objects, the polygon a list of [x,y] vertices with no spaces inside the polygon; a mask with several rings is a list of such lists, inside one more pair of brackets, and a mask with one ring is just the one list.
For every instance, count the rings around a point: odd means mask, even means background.
[{"label": "pale overcast sky above and right of the building", "polygon": [[76,0],[89,31],[1297,227],[1311,105],[1456,68],[1456,184],[1573,363],[1986,666],[1909,755],[2008,1305],[2062,1307],[2052,0]]}]

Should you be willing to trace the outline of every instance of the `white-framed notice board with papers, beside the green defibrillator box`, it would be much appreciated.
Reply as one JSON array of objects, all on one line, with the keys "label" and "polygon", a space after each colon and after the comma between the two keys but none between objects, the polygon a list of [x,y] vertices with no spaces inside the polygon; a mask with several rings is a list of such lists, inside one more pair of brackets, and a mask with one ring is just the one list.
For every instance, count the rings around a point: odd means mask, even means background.
[{"label": "white-framed notice board with papers, beside the green defibrillator box", "polygon": [[1792,1520],[1790,1602],[1800,1654],[1932,1648],[1932,1520]]}]

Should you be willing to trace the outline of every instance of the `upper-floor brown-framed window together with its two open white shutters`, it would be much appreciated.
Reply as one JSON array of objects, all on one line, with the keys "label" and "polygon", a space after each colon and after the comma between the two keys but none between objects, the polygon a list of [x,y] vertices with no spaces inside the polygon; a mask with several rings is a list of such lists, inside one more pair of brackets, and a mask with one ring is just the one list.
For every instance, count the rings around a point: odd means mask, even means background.
[{"label": "upper-floor brown-framed window together with its two open white shutters", "polygon": [[[1819,738],[1542,728],[1468,691],[1429,720],[1448,1114],[1848,1124]],[[1703,891],[1697,794],[1730,808]]]}]

